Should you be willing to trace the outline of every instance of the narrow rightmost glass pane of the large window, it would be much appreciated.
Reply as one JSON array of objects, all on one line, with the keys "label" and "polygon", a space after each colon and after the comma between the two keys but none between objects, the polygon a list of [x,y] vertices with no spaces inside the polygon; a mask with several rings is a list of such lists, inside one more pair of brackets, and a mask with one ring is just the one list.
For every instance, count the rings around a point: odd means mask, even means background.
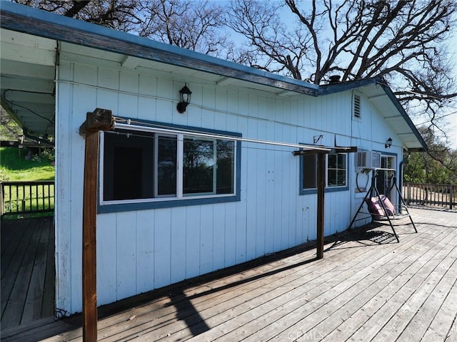
[{"label": "narrow rightmost glass pane of the large window", "polygon": [[216,193],[234,193],[235,143],[229,140],[217,140],[217,177]]}]

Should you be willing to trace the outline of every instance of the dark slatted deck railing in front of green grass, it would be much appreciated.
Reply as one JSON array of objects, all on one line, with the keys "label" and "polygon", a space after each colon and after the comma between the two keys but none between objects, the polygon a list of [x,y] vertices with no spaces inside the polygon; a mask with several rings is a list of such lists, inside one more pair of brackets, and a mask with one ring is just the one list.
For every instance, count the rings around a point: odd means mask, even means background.
[{"label": "dark slatted deck railing in front of green grass", "polygon": [[54,211],[54,181],[1,182],[0,214]]}]

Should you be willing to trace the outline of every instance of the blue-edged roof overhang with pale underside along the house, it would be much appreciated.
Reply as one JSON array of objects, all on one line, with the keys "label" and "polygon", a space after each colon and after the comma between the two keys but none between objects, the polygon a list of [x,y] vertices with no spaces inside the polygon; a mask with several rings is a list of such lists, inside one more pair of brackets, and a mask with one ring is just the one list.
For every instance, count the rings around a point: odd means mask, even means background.
[{"label": "blue-edged roof overhang with pale underside along the house", "polygon": [[[276,95],[320,96],[360,88],[383,100],[381,113],[408,149],[426,144],[390,88],[377,78],[327,86],[298,81],[149,38],[1,1],[1,105],[31,134],[54,134],[54,79],[58,48],[103,54],[122,66],[154,68],[187,81],[201,78],[219,85],[264,90]],[[381,87],[380,87],[381,86]],[[388,100],[388,101],[386,101]],[[14,110],[12,103],[14,102]],[[388,114],[386,102],[389,102]],[[390,121],[391,120],[391,121]]]}]

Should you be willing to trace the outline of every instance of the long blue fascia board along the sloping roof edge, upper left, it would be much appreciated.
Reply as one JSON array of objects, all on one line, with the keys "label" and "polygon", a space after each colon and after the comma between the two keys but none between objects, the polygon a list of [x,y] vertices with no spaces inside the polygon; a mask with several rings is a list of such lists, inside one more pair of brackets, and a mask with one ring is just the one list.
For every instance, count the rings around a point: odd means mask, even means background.
[{"label": "long blue fascia board along the sloping roof edge, upper left", "polygon": [[1,1],[1,28],[317,96],[319,87],[131,33]]}]

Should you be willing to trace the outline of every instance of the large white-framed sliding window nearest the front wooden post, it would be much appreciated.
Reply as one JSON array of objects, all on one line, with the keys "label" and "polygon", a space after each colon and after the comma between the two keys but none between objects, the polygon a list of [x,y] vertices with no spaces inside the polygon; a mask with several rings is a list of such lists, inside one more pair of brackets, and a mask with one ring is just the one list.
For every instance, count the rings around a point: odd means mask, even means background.
[{"label": "large white-framed sliding window nearest the front wooden post", "polygon": [[[206,199],[201,204],[215,197],[231,197],[216,202],[229,202],[233,197],[239,200],[239,142],[226,136],[205,138],[201,133],[135,127],[101,133],[100,207],[132,203],[164,207]],[[176,203],[157,205],[159,202]],[[100,207],[99,212],[110,211],[100,211]]]}]

